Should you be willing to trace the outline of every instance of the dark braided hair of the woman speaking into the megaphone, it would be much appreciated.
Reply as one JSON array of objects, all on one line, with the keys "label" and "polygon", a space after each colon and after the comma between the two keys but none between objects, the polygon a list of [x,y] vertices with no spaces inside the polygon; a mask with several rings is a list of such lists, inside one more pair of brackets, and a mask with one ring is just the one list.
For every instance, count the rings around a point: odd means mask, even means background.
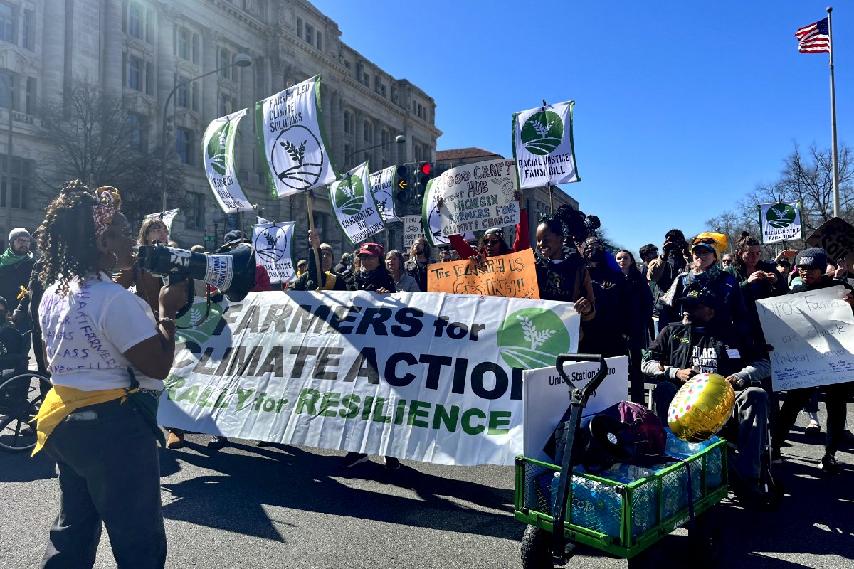
[{"label": "dark braided hair of the woman speaking into the megaphone", "polygon": [[38,248],[44,257],[39,280],[45,287],[59,281],[65,295],[74,277],[96,273],[101,278],[101,253],[92,218],[96,204],[95,195],[79,180],[63,183],[59,195],[50,202],[38,228]]}]

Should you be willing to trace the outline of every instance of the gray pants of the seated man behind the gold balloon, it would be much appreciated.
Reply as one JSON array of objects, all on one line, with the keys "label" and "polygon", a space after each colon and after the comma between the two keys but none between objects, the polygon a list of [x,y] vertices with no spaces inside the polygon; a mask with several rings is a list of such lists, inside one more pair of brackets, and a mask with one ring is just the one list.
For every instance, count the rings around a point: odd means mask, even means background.
[{"label": "gray pants of the seated man behind the gold balloon", "polygon": [[[667,424],[667,409],[679,391],[670,381],[661,381],[652,391],[655,413]],[[747,387],[735,392],[733,418],[738,421],[738,450],[734,456],[735,472],[744,479],[758,479],[762,473],[762,453],[768,443],[768,414],[770,398],[761,387]]]}]

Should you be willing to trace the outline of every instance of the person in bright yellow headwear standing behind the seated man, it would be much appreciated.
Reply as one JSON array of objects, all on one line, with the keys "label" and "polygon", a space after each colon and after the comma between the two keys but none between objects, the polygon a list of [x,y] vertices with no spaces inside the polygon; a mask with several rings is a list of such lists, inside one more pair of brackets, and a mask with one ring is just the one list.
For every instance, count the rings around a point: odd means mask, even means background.
[{"label": "person in bright yellow headwear standing behind the seated man", "polygon": [[[663,299],[667,305],[673,306],[673,299],[686,297],[692,292],[711,294],[717,302],[714,324],[719,327],[735,326],[740,333],[749,334],[750,324],[741,289],[735,277],[721,270],[717,264],[726,248],[727,236],[722,233],[697,235],[691,241],[692,262],[687,266],[687,272],[673,281]],[[676,313],[676,320],[671,322],[681,321],[681,310],[670,313]]]}]

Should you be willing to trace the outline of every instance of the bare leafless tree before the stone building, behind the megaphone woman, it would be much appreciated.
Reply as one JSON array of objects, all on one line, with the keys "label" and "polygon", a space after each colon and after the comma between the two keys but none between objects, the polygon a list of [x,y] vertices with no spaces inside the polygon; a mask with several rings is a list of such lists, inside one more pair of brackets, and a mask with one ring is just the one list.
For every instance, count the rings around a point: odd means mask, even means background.
[{"label": "bare leafless tree before the stone building, behind the megaphone woman", "polygon": [[[39,109],[39,136],[55,151],[48,154],[37,176],[40,193],[52,199],[61,183],[79,179],[115,186],[122,195],[122,212],[138,222],[161,210],[161,148],[147,144],[148,128],[125,100],[96,84],[74,80],[61,94],[62,104]],[[180,165],[169,153],[167,193],[170,206],[183,206]]]}]

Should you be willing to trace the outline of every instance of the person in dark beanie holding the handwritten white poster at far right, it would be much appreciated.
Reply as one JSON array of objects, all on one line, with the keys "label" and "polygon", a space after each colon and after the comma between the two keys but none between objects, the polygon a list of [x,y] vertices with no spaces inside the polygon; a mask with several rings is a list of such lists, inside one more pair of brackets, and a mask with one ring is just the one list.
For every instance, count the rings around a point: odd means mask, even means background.
[{"label": "person in dark beanie holding the handwritten white poster at far right", "polygon": [[[843,300],[854,307],[854,296],[852,296],[854,289],[847,282],[839,281],[824,274],[828,265],[827,251],[821,247],[804,249],[795,258],[795,265],[798,267],[798,275],[803,282],[793,287],[792,293],[804,293],[819,288],[842,285],[847,290]],[[824,404],[828,409],[828,428],[824,444],[824,456],[822,457],[822,471],[824,473],[839,473],[836,451],[839,450],[839,445],[844,436],[845,415],[848,412],[848,390],[850,388],[851,383],[835,383],[820,387],[824,391]],[[803,389],[790,389],[786,392],[786,398],[783,400],[776,426],[771,435],[772,460],[774,462],[782,462],[781,446],[798,419],[798,412],[810,401],[814,389],[814,387],[805,387]]]}]

